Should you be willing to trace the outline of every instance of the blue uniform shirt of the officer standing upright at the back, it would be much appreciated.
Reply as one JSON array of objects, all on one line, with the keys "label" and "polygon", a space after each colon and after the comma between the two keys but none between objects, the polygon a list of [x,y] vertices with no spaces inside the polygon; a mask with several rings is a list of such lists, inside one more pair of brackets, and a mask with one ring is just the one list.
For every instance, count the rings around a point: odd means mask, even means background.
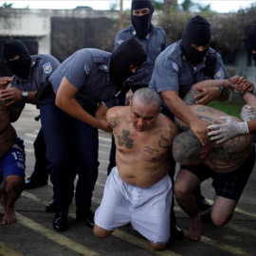
[{"label": "blue uniform shirt of the officer standing upright at the back", "polygon": [[[116,35],[115,49],[125,40],[136,36],[133,26],[125,27]],[[147,61],[142,64],[136,74],[130,79],[133,85],[148,85],[154,69],[155,59],[166,47],[166,35],[162,27],[152,26],[150,33],[145,39],[137,40],[142,44],[147,53]]]}]

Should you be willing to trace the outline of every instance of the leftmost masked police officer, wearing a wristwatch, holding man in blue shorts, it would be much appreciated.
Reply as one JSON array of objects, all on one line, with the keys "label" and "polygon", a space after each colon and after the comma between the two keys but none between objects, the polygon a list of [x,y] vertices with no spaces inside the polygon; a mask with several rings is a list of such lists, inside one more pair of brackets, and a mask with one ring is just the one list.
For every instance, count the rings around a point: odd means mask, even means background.
[{"label": "leftmost masked police officer, wearing a wristwatch, holding man in blue shorts", "polygon": [[[11,87],[2,90],[0,96],[14,103],[22,112],[26,103],[37,104],[35,94],[41,84],[58,66],[59,61],[51,55],[30,55],[27,46],[20,40],[8,40],[3,46],[3,57],[9,70],[14,74]],[[35,166],[31,176],[27,179],[25,189],[32,189],[47,184],[46,142],[42,132],[34,141]]]}]

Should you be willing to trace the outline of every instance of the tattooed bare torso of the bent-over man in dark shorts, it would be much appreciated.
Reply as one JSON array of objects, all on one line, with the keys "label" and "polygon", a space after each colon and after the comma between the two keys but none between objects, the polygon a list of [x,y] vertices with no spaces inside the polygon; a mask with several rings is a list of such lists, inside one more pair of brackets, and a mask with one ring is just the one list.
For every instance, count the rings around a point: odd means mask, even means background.
[{"label": "tattooed bare torso of the bent-over man in dark shorts", "polygon": [[[226,120],[220,119],[220,117],[229,116],[226,113],[217,109],[204,105],[190,105],[192,112],[201,120],[210,124],[225,123]],[[239,120],[235,117],[233,119]],[[186,130],[188,125],[177,120],[178,125],[181,125],[182,130]],[[252,140],[254,134],[241,135],[230,138],[229,140],[216,144],[215,142],[211,146],[211,150],[204,161],[211,170],[216,173],[229,173],[237,170],[251,154],[253,149]]]}]

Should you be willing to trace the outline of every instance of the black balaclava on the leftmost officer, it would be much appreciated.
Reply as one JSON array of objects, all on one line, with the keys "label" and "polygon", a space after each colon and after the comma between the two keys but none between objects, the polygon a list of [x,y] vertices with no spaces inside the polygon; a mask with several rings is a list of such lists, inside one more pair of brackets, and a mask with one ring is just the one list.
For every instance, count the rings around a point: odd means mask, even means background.
[{"label": "black balaclava on the leftmost officer", "polygon": [[[20,58],[15,61],[9,61],[14,56]],[[3,46],[3,57],[7,62],[9,70],[16,76],[27,79],[30,71],[31,56],[25,44],[20,40],[8,40]]]}]

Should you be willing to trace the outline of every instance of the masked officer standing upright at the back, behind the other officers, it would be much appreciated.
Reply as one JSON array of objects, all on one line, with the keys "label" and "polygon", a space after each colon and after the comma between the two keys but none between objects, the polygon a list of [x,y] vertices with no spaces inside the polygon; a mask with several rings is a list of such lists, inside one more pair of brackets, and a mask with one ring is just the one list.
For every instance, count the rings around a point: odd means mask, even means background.
[{"label": "masked officer standing upright at the back, behind the other officers", "polygon": [[166,47],[166,35],[162,27],[151,23],[154,7],[150,0],[133,0],[131,7],[132,25],[120,30],[116,35],[115,49],[131,38],[136,37],[147,53],[147,61],[131,77],[132,90],[148,87],[154,69],[155,59]]}]

